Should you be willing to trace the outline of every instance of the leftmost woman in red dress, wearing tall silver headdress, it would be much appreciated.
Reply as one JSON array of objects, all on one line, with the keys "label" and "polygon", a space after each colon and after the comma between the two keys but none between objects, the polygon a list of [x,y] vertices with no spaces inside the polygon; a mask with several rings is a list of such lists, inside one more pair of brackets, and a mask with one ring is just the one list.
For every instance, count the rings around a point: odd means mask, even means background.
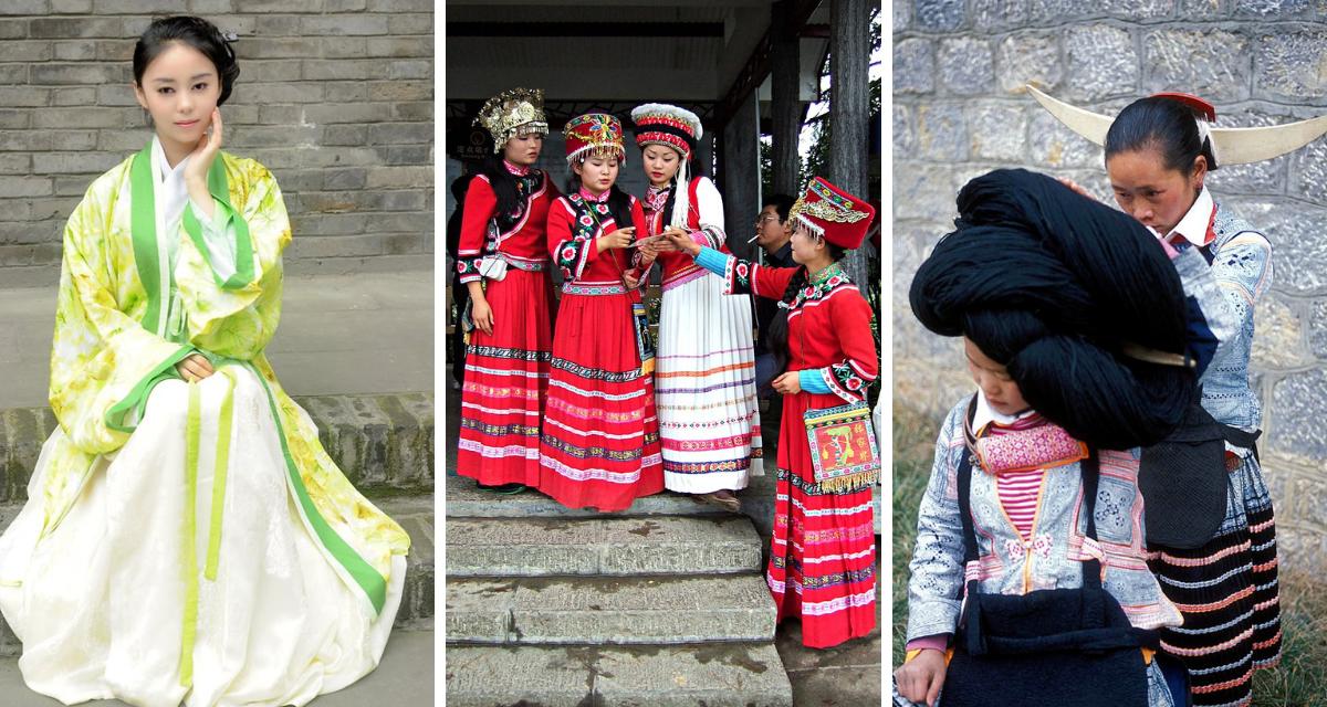
[{"label": "leftmost woman in red dress, wearing tall silver headdress", "polygon": [[539,484],[539,424],[552,357],[544,228],[557,187],[533,168],[548,134],[543,92],[490,98],[476,118],[494,155],[466,194],[459,280],[471,297],[456,472],[518,492]]}]

